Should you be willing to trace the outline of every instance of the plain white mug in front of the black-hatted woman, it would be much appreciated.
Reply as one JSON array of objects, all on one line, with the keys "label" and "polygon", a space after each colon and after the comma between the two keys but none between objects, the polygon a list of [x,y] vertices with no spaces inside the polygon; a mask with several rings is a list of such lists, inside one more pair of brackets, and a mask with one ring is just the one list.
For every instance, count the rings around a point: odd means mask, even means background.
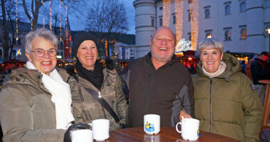
[{"label": "plain white mug in front of the black-hatted woman", "polygon": [[109,120],[96,119],[89,125],[92,126],[93,139],[96,139],[96,141],[104,141],[109,138]]}]

